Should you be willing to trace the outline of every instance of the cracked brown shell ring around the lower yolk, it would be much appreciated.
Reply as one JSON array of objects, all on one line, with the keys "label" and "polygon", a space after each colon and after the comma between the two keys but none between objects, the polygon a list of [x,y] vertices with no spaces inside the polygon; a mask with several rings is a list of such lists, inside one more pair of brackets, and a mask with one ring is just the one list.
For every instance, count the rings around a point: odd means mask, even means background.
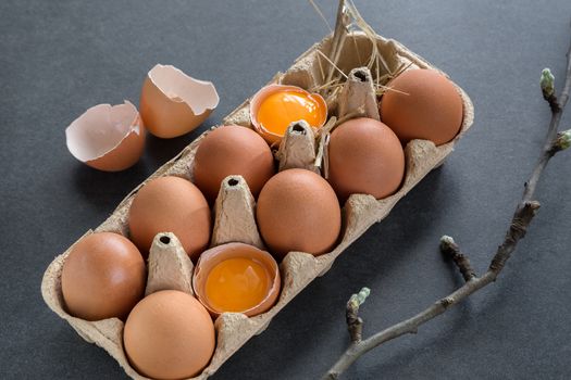
[{"label": "cracked brown shell ring around the lower yolk", "polygon": [[280,267],[275,258],[266,251],[262,251],[253,245],[233,242],[214,246],[202,252],[195,267],[193,276],[193,289],[198,301],[209,311],[213,318],[218,318],[223,312],[213,308],[207,295],[207,280],[211,270],[220,263],[232,258],[249,258],[265,267],[270,276],[270,283],[265,297],[249,309],[240,312],[248,317],[268,312],[276,303],[280,295],[282,280]]}]

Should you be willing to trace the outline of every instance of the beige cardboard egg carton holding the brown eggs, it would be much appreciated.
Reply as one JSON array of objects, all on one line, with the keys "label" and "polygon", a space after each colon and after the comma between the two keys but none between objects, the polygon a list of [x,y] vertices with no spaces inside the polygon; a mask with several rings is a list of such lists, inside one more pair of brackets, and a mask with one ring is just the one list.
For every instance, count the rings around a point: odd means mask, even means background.
[{"label": "beige cardboard egg carton holding the brown eggs", "polygon": [[[397,72],[402,67],[435,68],[397,41],[376,36],[376,46],[384,61],[383,66],[380,65],[378,67],[380,74],[386,74],[385,67],[392,72]],[[271,83],[295,85],[308,90],[320,86],[324,78],[323,71],[328,67],[328,64],[320,56],[321,54],[318,53],[318,50],[324,54],[330,52],[331,36],[315,43],[307,52],[301,54],[287,72],[276,74]],[[355,67],[363,66],[371,51],[371,41],[364,34],[358,31],[350,33],[344,43],[344,49],[337,65],[345,73],[348,73]],[[376,69],[377,67],[373,67],[372,72],[376,74]],[[360,79],[357,81],[363,81],[361,80],[362,78],[357,79]],[[370,86],[370,84],[367,84],[368,81],[370,80],[364,80],[365,85],[363,86]],[[402,197],[432,169],[438,167],[444,162],[446,156],[451,153],[456,141],[466,134],[473,122],[472,102],[461,88],[457,86],[457,89],[463,102],[463,122],[460,134],[452,141],[439,147],[435,147],[434,143],[426,140],[410,141],[405,148],[406,177],[398,192],[382,200],[375,200],[373,197],[365,194],[352,194],[343,207],[344,227],[338,243],[332,252],[316,257],[303,252],[288,253],[280,264],[282,291],[277,303],[269,312],[250,318],[238,313],[222,314],[215,320],[216,349],[214,355],[208,367],[194,379],[207,379],[210,377],[250,338],[262,332],[272,318],[280,313],[296,294],[316,277],[324,275],[331,268],[335,258],[342,254],[349,244],[364,233],[370,226],[381,221],[387,216]],[[363,105],[365,109],[364,114],[375,117],[375,111],[373,111],[373,109],[376,110],[376,105],[368,105],[371,100],[368,100],[367,96],[363,96],[367,91],[357,92],[360,94],[351,96],[351,91],[340,91],[337,101],[330,104],[330,111],[336,112],[337,114],[347,113],[347,107],[356,106],[346,104],[352,100]],[[363,97],[362,99],[357,99],[357,97],[361,96]],[[343,100],[344,98],[345,100]],[[343,103],[342,105],[338,104],[339,101]],[[369,111],[367,109],[369,109]],[[376,117],[378,117],[377,115]],[[247,100],[224,118],[224,124],[238,124],[251,127],[249,117],[249,100]],[[303,129],[302,126],[301,129]],[[281,160],[280,167],[301,166],[318,172],[319,167],[312,166],[311,152],[315,154],[319,149],[313,148],[313,150],[308,150],[307,143],[316,147],[319,142],[315,142],[312,138],[308,139],[308,134],[305,134],[301,129],[290,128],[287,135],[289,142],[282,142],[280,152],[277,153]],[[166,175],[179,176],[193,180],[191,167],[195,153],[206,134],[208,134],[208,131],[198,137],[173,160],[160,167],[147,181]],[[307,153],[308,151],[309,153]],[[310,154],[310,156],[308,157],[307,154]],[[324,157],[324,161],[326,164],[326,157]],[[326,168],[326,165],[322,166],[322,168]],[[247,186],[244,181],[240,181],[239,178],[235,178],[235,181],[232,181],[234,185],[228,183],[222,186],[221,195],[214,206],[215,217],[214,231],[211,240],[212,244],[218,245],[228,241],[241,241],[252,245],[263,246],[263,242],[256,227],[253,212],[256,206],[255,200],[249,193]],[[133,190],[119,204],[113,214],[97,227],[95,231],[113,231],[128,237],[128,210],[135,193],[142,185],[145,185],[145,182]],[[88,231],[87,233],[92,233],[92,231]],[[160,289],[179,289],[191,293],[190,275],[194,268],[193,263],[177,245],[177,239],[172,235],[166,236],[169,236],[170,239],[163,239],[163,241],[167,241],[167,244],[161,242],[161,235],[158,235],[154,239],[148,265],[149,280],[147,293]],[[129,377],[134,379],[145,379],[145,377],[137,373],[129,365],[125,356],[122,340],[123,322],[121,320],[110,318],[99,321],[86,321],[75,318],[65,312],[61,292],[61,273],[70,250],[71,248],[55,257],[45,273],[41,292],[46,303],[55,314],[67,320],[82,338],[90,343],[96,343],[113,356]]]}]

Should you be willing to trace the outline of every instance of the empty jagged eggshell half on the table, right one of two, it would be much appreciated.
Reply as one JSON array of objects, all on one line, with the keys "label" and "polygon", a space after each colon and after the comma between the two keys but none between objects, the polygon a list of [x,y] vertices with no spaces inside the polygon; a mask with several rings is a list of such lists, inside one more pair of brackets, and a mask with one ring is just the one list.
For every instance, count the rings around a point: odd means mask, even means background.
[{"label": "empty jagged eggshell half on the table, right one of two", "polygon": [[211,81],[189,77],[171,65],[158,64],[147,74],[140,93],[140,114],[154,136],[185,135],[207,119],[219,105]]}]

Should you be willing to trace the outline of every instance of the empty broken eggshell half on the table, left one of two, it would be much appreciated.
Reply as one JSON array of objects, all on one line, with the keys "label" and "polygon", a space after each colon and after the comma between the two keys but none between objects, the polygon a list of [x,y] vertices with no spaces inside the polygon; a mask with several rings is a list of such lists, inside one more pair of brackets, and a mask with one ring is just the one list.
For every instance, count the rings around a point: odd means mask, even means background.
[{"label": "empty broken eggshell half on the table, left one of two", "polygon": [[146,130],[133,103],[98,104],[66,129],[67,149],[84,164],[103,172],[124,170],[139,161]]}]

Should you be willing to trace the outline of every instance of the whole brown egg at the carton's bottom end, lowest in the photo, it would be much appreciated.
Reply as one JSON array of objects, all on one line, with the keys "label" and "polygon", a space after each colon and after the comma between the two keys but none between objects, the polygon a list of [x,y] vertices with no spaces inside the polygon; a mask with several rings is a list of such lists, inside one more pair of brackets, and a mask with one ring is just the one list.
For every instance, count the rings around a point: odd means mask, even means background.
[{"label": "whole brown egg at the carton's bottom end, lowest in the photo", "polygon": [[146,296],[131,312],[123,343],[139,373],[153,379],[186,379],[210,362],[214,325],[194,296],[163,290]]}]

